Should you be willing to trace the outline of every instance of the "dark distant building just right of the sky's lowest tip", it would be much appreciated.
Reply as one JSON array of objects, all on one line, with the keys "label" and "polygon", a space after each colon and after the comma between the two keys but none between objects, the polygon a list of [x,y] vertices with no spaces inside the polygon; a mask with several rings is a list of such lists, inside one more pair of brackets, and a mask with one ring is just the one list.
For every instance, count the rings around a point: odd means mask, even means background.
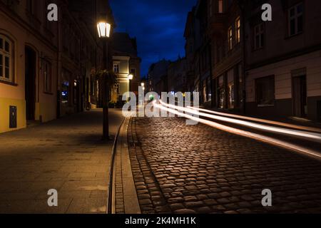
[{"label": "dark distant building just right of the sky's lowest tip", "polygon": [[148,70],[148,86],[146,87],[148,92],[156,92],[158,95],[161,95],[161,92],[168,91],[168,66],[170,61],[165,59],[153,63]]}]

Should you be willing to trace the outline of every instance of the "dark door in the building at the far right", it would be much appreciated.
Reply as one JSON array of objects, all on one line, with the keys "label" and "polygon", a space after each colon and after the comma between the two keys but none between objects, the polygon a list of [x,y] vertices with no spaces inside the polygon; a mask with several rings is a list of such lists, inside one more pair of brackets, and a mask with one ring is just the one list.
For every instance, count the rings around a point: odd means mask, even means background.
[{"label": "dark door in the building at the far right", "polygon": [[298,76],[292,78],[292,105],[293,114],[296,117],[307,116],[307,77]]}]

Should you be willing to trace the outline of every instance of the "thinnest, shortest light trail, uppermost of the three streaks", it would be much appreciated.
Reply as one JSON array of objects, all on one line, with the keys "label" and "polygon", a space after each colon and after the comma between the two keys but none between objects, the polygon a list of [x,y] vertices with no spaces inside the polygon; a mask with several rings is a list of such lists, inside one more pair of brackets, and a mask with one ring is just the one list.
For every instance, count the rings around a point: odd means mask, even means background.
[{"label": "thinnest, shortest light trail, uppermost of the three streaks", "polygon": [[232,117],[232,118],[251,120],[251,121],[260,122],[260,123],[269,123],[272,125],[279,125],[279,126],[283,126],[283,127],[287,127],[287,128],[294,128],[294,129],[298,129],[298,130],[307,130],[307,131],[321,133],[321,129],[319,129],[319,128],[310,128],[310,127],[306,127],[306,126],[299,126],[299,125],[294,125],[294,124],[290,124],[290,123],[281,123],[281,122],[277,122],[277,121],[273,121],[273,120],[264,120],[264,119],[252,118],[252,117],[243,116],[243,115],[235,115],[235,114],[230,114],[230,113],[220,113],[220,112],[215,112],[215,111],[207,110],[207,109],[203,109],[203,108],[195,108],[192,106],[187,106],[187,108],[190,108],[193,110],[199,110],[204,113],[212,113],[215,115],[223,115],[223,116],[228,116],[228,117]]}]

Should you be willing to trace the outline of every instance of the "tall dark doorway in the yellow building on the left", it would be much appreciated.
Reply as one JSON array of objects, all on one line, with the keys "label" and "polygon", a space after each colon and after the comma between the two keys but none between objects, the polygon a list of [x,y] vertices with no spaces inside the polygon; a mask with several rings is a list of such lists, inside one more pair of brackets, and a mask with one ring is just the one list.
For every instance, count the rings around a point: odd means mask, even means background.
[{"label": "tall dark doorway in the yellow building on the left", "polygon": [[36,52],[25,48],[25,95],[26,95],[26,119],[35,119],[36,109]]}]

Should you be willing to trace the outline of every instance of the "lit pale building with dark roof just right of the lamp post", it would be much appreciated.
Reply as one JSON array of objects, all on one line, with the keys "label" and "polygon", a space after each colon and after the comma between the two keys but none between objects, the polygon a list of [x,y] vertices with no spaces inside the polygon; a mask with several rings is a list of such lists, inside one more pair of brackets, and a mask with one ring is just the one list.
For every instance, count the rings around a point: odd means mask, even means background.
[{"label": "lit pale building with dark roof just right of the lamp post", "polygon": [[[128,33],[113,34],[113,72],[116,73],[118,83],[113,87],[111,100],[122,100],[124,93],[131,91],[138,95],[141,85],[141,58],[138,57],[136,38]],[[133,80],[128,80],[128,75]]]}]

